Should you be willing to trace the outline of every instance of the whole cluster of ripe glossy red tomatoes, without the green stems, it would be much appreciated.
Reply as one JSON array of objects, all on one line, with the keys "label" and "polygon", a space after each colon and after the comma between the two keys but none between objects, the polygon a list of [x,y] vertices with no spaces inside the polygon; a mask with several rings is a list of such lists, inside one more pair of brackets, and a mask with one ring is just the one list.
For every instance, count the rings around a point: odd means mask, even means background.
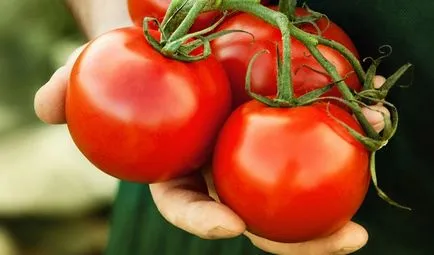
[{"label": "whole cluster of ripe glossy red tomatoes, without the green stems", "polygon": [[[144,16],[162,18],[169,3],[130,0],[129,10],[141,25]],[[208,27],[217,15],[201,15],[192,30]],[[299,28],[312,34],[319,29],[357,56],[345,32],[325,18]],[[212,158],[220,200],[249,231],[282,242],[333,233],[355,214],[369,185],[368,151],[342,125],[363,134],[359,123],[332,103],[274,108],[251,100],[245,92],[247,66],[263,49],[270,54],[254,63],[252,90],[276,94],[281,33],[247,13],[229,17],[217,28],[222,30],[250,35],[220,37],[212,42],[213,55],[192,63],[160,54],[140,26],[92,41],[75,63],[67,90],[73,140],[102,171],[133,182],[185,176]],[[160,37],[157,31],[151,35]],[[291,44],[297,97],[332,82],[301,42]],[[319,50],[353,90],[360,89],[338,51]],[[326,95],[340,92],[333,88]]]}]

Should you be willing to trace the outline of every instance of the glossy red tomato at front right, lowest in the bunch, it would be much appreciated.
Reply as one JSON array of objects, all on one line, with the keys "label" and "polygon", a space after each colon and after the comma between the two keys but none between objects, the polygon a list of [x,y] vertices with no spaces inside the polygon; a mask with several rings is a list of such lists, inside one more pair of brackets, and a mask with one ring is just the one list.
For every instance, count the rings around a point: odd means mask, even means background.
[{"label": "glossy red tomato at front right, lowest in the bunch", "polygon": [[239,107],[224,125],[213,160],[220,200],[249,231],[278,242],[330,235],[360,207],[370,181],[368,151],[335,119],[362,132],[332,104]]}]

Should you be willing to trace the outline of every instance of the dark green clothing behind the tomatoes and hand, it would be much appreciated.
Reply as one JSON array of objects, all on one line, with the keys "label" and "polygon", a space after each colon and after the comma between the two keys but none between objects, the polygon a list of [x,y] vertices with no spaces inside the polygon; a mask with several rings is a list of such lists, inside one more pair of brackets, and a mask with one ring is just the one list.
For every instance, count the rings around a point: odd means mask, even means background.
[{"label": "dark green clothing behind the tomatoes and hand", "polygon": [[[380,185],[413,212],[387,205],[372,190],[356,221],[370,233],[368,245],[357,254],[434,254],[434,1],[432,0],[311,0],[353,38],[361,56],[378,56],[389,44],[393,54],[380,74],[389,75],[407,61],[415,65],[409,88],[395,88],[389,100],[400,112],[395,138],[377,154]],[[411,77],[403,79],[409,85]],[[430,233],[431,232],[431,233]],[[156,211],[145,185],[122,183],[115,204],[107,255],[144,254],[261,254],[244,237],[205,241],[178,230]]]}]

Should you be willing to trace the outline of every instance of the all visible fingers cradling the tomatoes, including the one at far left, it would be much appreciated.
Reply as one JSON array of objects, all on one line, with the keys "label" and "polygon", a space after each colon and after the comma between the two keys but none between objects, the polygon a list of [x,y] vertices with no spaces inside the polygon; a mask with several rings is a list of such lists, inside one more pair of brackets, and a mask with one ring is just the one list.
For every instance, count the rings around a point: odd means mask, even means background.
[{"label": "all visible fingers cradling the tomatoes, including the one at far left", "polygon": [[[65,66],[59,68],[52,78],[35,95],[35,111],[46,123],[65,123],[65,93],[69,73],[83,47],[77,49]],[[377,87],[385,79],[377,76]],[[373,108],[373,109],[372,109]],[[387,109],[381,105],[363,112],[377,131],[384,127],[383,115]],[[188,177],[151,184],[155,204],[161,214],[175,226],[205,239],[231,238],[245,234],[262,250],[276,254],[321,255],[348,254],[364,246],[368,239],[366,230],[350,222],[333,235],[304,243],[283,244],[257,237],[246,231],[244,222],[228,207],[216,202],[212,179],[204,171]]]}]

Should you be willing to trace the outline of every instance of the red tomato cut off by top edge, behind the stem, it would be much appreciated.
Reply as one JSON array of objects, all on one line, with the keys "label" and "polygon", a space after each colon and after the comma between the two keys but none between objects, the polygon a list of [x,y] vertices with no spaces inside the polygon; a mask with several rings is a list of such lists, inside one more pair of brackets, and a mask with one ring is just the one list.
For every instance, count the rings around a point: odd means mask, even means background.
[{"label": "red tomato cut off by top edge, behind the stem", "polygon": [[[128,11],[136,26],[142,26],[144,17],[154,17],[162,21],[171,0],[128,0]],[[262,0],[267,4],[269,0]],[[192,26],[192,31],[199,31],[211,26],[217,21],[219,12],[206,12],[201,14],[196,23]]]}]

